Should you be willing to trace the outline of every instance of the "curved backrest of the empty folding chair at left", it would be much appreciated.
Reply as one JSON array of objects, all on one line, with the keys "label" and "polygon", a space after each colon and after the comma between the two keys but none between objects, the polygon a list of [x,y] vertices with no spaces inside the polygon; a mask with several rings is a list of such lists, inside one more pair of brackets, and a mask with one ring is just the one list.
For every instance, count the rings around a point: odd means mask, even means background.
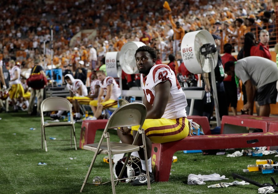
[{"label": "curved backrest of the empty folding chair at left", "polygon": [[42,101],[42,103],[40,104],[40,109],[42,112],[57,111],[57,110],[70,111],[71,104],[70,101],[68,101],[66,98],[50,97]]}]

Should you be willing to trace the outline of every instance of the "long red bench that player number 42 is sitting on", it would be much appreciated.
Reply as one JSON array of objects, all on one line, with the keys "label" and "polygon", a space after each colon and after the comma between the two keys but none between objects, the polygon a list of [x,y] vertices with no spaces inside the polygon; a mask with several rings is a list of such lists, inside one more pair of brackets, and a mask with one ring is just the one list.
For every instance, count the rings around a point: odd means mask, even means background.
[{"label": "long red bench that player number 42 is sitting on", "polygon": [[168,181],[176,151],[211,150],[244,147],[278,146],[278,132],[188,136],[167,143],[153,143],[152,166],[155,181]]}]

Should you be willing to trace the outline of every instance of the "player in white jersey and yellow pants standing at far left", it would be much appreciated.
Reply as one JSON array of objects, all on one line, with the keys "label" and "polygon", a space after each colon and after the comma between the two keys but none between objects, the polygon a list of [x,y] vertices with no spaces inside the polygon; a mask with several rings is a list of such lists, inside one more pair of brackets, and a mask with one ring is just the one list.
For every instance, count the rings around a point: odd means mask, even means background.
[{"label": "player in white jersey and yellow pants standing at far left", "polygon": [[19,105],[22,105],[23,102],[23,95],[24,95],[24,89],[21,85],[20,80],[20,68],[15,64],[14,60],[11,60],[9,62],[10,66],[10,76],[11,80],[9,82],[9,85],[11,86],[11,89],[9,91],[10,98],[12,100],[12,104],[14,106],[14,112],[18,112],[18,106],[16,105],[16,100],[19,100]]}]

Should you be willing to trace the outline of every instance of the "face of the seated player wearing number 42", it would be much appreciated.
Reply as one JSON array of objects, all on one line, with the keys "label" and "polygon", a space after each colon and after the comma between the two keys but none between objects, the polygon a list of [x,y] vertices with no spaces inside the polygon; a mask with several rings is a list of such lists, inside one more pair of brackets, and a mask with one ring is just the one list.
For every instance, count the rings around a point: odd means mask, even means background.
[{"label": "face of the seated player wearing number 42", "polygon": [[137,52],[135,59],[136,59],[136,66],[137,69],[139,70],[139,73],[148,75],[150,69],[155,63],[155,59],[152,59],[150,53],[146,51]]}]

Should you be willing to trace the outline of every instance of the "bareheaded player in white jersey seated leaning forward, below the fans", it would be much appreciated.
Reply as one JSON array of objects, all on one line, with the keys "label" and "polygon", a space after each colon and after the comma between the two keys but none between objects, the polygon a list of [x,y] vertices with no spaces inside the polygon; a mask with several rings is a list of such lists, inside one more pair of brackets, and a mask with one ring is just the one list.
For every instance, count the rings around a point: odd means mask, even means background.
[{"label": "bareheaded player in white jersey seated leaning forward, below the fans", "polygon": [[[103,109],[113,107],[118,107],[118,98],[121,95],[121,89],[113,77],[106,77],[104,71],[96,72],[98,79],[100,80],[100,91],[97,100],[90,102],[91,109],[94,112],[94,117],[90,118],[91,120],[96,120],[102,113]],[[106,96],[104,96],[106,92]]]}]

